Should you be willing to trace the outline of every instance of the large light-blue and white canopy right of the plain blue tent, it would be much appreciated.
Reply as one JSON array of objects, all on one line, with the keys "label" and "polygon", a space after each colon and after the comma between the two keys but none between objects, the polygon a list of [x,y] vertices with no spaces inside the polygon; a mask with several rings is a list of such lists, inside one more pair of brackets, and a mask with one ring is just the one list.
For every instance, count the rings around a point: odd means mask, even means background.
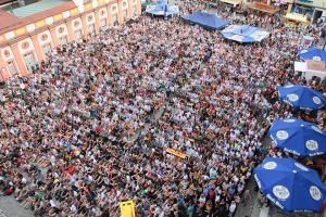
[{"label": "large light-blue and white canopy right of the plain blue tent", "polygon": [[269,35],[268,31],[249,25],[230,25],[221,33],[225,38],[239,42],[259,42]]}]

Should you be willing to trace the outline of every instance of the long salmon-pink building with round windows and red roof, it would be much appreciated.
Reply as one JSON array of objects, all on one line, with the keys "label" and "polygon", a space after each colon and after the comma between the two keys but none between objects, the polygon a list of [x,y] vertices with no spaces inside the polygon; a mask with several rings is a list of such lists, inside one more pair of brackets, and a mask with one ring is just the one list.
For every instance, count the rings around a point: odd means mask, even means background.
[{"label": "long salmon-pink building with round windows and red roof", "polygon": [[58,46],[140,13],[141,0],[74,0],[24,18],[0,11],[0,80],[28,76]]}]

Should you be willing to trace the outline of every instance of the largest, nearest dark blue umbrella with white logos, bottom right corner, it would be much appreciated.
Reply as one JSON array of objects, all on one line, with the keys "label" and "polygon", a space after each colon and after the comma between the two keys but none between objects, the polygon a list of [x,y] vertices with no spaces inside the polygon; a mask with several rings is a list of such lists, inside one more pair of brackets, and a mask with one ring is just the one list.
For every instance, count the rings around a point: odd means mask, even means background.
[{"label": "largest, nearest dark blue umbrella with white logos, bottom right corner", "polygon": [[293,158],[266,157],[253,174],[263,194],[286,213],[319,212],[326,189],[315,170]]}]

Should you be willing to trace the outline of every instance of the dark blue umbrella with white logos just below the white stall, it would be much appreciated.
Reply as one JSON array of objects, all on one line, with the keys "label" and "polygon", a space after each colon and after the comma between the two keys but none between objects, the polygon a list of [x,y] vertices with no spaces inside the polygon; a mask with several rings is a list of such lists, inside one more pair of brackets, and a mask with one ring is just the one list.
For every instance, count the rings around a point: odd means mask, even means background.
[{"label": "dark blue umbrella with white logos just below the white stall", "polygon": [[278,97],[294,108],[317,111],[326,104],[323,94],[301,85],[288,85],[278,88]]}]

